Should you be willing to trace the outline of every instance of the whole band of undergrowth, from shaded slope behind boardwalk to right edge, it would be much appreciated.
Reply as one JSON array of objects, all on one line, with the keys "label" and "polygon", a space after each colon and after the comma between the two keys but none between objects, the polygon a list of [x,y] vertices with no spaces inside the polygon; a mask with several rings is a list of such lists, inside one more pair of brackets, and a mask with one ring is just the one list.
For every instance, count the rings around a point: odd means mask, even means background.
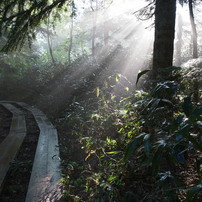
[{"label": "whole band of undergrowth, from shaded slope behind boardwalk to right edge", "polygon": [[164,79],[137,90],[118,70],[83,63],[2,80],[0,97],[21,95],[62,122],[64,198],[200,201],[201,68],[165,69]]}]

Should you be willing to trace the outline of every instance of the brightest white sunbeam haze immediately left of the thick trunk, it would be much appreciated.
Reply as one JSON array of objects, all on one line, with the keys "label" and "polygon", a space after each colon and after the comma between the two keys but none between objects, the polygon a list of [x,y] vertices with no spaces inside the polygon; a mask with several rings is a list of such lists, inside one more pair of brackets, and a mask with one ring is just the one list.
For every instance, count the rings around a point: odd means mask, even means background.
[{"label": "brightest white sunbeam haze immediately left of the thick trunk", "polygon": [[[96,35],[100,34],[99,32],[104,29],[108,33],[108,44],[100,46],[100,42],[95,39],[97,61],[100,63],[107,59],[108,66],[112,69],[119,69],[120,73],[124,75],[133,74],[133,79],[135,78],[135,73],[142,68],[146,68],[146,66],[143,67],[145,65],[144,58],[148,58],[148,55],[151,56],[152,51],[153,21],[152,19],[147,22],[141,21],[134,14],[145,5],[147,3],[144,1],[134,3],[134,1],[120,0],[113,2],[107,9],[98,11],[96,14],[96,26],[98,27],[96,28],[98,30]],[[84,21],[90,22],[90,18],[92,16],[87,15]],[[117,22],[119,23],[117,24]],[[85,27],[84,25],[83,28],[85,29]],[[93,29],[93,24],[91,24],[90,29]],[[119,46],[125,47],[125,52],[115,53]],[[109,53],[113,52],[113,57],[109,61]],[[123,58],[121,64],[116,63],[116,57]]]}]

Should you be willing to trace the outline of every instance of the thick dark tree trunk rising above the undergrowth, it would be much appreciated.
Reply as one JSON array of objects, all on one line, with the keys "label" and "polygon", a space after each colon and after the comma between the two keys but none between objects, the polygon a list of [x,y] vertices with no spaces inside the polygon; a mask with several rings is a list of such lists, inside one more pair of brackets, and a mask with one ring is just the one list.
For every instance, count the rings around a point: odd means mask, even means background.
[{"label": "thick dark tree trunk rising above the undergrowth", "polygon": [[156,0],[153,77],[161,68],[172,66],[175,38],[176,0]]}]

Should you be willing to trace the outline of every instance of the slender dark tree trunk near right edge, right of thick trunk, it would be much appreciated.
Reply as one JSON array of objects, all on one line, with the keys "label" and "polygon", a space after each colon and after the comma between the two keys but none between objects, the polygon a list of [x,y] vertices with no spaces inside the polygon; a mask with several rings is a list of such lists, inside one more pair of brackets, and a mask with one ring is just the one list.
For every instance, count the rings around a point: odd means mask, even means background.
[{"label": "slender dark tree trunk near right edge, right of thick trunk", "polygon": [[189,0],[189,16],[192,28],[193,58],[198,58],[197,31],[196,24],[194,22],[193,0]]}]

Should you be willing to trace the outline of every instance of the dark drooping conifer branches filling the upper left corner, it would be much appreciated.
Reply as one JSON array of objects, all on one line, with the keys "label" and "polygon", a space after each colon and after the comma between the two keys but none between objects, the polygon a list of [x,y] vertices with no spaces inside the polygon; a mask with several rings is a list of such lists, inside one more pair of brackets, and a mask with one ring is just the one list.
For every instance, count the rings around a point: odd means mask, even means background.
[{"label": "dark drooping conifer branches filling the upper left corner", "polygon": [[66,9],[66,0],[3,0],[0,2],[0,35],[7,37],[3,51],[21,48],[26,39],[35,38],[36,27],[46,20],[51,12]]}]

